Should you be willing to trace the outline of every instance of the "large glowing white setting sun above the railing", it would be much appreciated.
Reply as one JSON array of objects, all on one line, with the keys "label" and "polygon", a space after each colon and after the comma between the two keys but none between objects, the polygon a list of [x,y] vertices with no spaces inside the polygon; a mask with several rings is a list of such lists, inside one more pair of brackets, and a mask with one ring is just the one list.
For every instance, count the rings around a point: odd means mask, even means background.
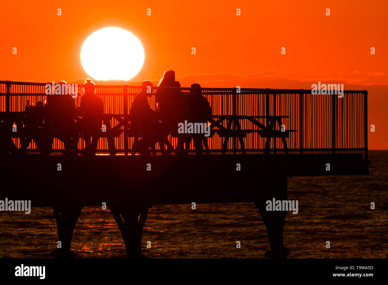
[{"label": "large glowing white setting sun above the railing", "polygon": [[81,48],[81,63],[96,80],[129,80],[143,66],[140,40],[120,28],[103,28],[90,35]]}]

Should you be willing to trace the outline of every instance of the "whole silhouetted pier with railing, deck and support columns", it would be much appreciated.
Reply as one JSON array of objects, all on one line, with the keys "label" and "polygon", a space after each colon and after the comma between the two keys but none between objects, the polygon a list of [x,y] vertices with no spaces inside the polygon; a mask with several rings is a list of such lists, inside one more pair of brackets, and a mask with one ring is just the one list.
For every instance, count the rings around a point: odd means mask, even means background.
[{"label": "whole silhouetted pier with railing, deck and support columns", "polygon": [[[96,85],[107,131],[100,134],[97,155],[88,155],[82,137],[79,154],[66,154],[57,138],[50,150],[38,149],[33,139],[23,149],[31,135],[25,130],[26,106],[46,102],[46,84],[0,81],[0,173],[3,181],[17,181],[4,183],[0,200],[54,208],[62,241],[56,257],[71,257],[71,237],[84,206],[105,202],[127,256],[138,258],[152,205],[252,202],[268,231],[266,256],[285,258],[287,212],[266,211],[265,202],[287,200],[287,178],[369,174],[365,90],[344,90],[340,98],[303,89],[201,88],[212,109],[203,154],[196,155],[191,143],[188,154],[166,155],[157,143],[152,155],[140,155],[133,147],[140,136],[131,130],[129,114],[140,86]],[[79,106],[82,85],[77,92]],[[157,110],[154,96],[149,103]],[[109,154],[109,137],[116,155]],[[177,139],[169,136],[174,147]]]}]

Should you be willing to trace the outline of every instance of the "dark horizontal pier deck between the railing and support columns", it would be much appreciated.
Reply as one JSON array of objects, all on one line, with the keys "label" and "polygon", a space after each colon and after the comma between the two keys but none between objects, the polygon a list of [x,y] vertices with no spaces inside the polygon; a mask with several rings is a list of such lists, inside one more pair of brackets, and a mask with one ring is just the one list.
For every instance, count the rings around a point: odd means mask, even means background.
[{"label": "dark horizontal pier deck between the railing and support columns", "polygon": [[0,172],[9,186],[0,199],[31,200],[33,207],[65,201],[83,206],[256,202],[276,176],[365,175],[368,164],[362,153],[7,155]]}]

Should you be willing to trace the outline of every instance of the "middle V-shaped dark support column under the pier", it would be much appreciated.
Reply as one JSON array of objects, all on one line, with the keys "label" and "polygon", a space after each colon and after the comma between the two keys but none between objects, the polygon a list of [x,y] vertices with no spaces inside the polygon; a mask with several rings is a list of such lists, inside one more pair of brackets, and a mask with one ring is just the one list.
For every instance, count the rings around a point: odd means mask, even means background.
[{"label": "middle V-shaped dark support column under the pier", "polygon": [[116,223],[120,228],[121,234],[123,235],[126,256],[128,258],[145,257],[141,254],[142,235],[149,208],[151,208],[151,205],[109,206],[109,210],[111,210],[113,218],[116,220]]}]

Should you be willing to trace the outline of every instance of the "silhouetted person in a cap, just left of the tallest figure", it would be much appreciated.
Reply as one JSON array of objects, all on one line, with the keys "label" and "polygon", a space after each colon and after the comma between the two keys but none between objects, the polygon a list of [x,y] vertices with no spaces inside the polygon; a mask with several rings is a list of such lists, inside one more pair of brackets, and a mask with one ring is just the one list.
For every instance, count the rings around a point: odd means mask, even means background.
[{"label": "silhouetted person in a cap, just left of the tallest figure", "polygon": [[155,148],[156,142],[162,146],[163,137],[167,134],[162,135],[161,123],[156,121],[157,112],[152,110],[147,97],[151,97],[151,86],[150,81],[143,81],[142,90],[133,99],[130,115],[131,115],[131,131],[141,136],[142,138],[133,142],[133,149],[142,149],[139,151],[140,154],[149,154],[148,151],[144,151],[151,147]]}]

